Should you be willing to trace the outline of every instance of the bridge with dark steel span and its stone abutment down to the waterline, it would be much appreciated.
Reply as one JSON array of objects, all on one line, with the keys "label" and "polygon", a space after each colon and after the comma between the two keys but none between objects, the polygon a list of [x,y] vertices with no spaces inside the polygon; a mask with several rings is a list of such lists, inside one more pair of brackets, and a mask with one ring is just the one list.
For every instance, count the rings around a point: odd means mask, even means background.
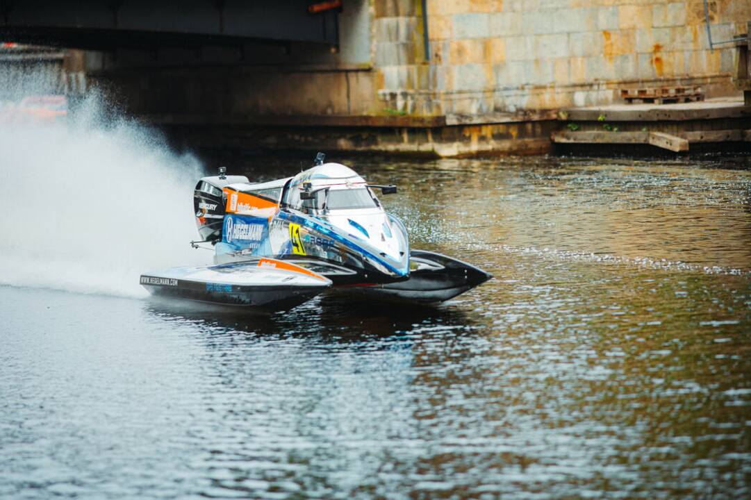
[{"label": "bridge with dark steel span and its stone abutment down to the waterline", "polygon": [[[545,152],[620,90],[738,93],[751,2],[0,0],[0,38],[86,50],[92,85],[191,146]],[[174,6],[179,6],[176,11]]]}]

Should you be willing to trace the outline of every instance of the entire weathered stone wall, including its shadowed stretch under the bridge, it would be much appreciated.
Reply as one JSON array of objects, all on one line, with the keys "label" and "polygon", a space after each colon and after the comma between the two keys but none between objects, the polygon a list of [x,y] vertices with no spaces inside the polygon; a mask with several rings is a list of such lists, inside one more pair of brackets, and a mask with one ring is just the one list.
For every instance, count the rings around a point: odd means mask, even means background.
[{"label": "entire weathered stone wall, including its shadowed stretch under the bridge", "polygon": [[[427,13],[421,0],[343,3],[338,48],[120,50],[90,54],[87,69],[133,113],[193,122],[473,116],[477,125],[608,104],[621,87],[735,92],[734,50],[709,49],[701,0],[427,0]],[[716,41],[751,20],[751,0],[709,5]]]}]

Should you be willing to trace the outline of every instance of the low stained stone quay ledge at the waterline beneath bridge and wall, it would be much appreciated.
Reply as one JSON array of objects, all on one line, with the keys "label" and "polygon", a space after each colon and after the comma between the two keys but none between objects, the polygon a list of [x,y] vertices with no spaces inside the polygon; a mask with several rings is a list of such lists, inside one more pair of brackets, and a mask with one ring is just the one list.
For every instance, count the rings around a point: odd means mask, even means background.
[{"label": "low stained stone quay ledge at the waterline beneath bridge and wall", "polygon": [[179,146],[258,152],[379,152],[423,158],[553,151],[555,111],[493,116],[142,116]]}]

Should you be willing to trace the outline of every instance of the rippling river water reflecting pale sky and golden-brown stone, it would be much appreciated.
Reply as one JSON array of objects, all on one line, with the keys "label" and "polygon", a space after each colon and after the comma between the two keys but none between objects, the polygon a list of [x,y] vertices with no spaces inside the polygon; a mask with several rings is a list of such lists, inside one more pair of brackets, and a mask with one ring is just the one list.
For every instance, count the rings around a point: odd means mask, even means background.
[{"label": "rippling river water reflecting pale sky and golden-brown stone", "polygon": [[751,496],[749,158],[345,160],[495,279],[268,318],[2,286],[0,498]]}]

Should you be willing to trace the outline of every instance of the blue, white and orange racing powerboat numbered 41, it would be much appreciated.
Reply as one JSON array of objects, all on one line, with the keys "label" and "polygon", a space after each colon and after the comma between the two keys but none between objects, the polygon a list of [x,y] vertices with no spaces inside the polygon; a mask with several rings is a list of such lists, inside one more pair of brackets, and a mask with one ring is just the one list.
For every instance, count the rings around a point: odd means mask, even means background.
[{"label": "blue, white and orange racing powerboat numbered 41", "polygon": [[492,276],[457,259],[409,248],[404,224],[385,211],[354,170],[324,163],[296,176],[249,182],[245,176],[198,181],[194,208],[214,264],[145,273],[152,294],[285,309],[332,288],[349,297],[400,303],[451,299]]}]

